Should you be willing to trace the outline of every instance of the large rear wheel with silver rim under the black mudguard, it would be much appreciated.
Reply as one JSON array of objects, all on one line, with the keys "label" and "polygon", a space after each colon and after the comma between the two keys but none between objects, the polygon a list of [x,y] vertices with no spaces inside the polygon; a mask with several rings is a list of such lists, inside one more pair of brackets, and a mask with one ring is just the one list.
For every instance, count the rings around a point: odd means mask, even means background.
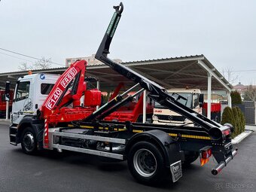
[{"label": "large rear wheel with silver rim under the black mudguard", "polygon": [[133,177],[143,184],[159,184],[169,173],[160,148],[150,142],[133,145],[127,163]]}]

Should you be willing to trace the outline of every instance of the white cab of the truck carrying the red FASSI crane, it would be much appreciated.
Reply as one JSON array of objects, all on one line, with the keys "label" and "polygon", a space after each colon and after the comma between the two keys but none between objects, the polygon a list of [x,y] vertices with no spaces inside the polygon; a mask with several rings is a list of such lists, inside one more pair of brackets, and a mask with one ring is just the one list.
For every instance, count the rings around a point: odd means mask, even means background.
[{"label": "white cab of the truck carrying the red FASSI crane", "polygon": [[19,124],[26,115],[35,115],[41,108],[59,75],[34,74],[18,79],[11,112],[11,123]]}]

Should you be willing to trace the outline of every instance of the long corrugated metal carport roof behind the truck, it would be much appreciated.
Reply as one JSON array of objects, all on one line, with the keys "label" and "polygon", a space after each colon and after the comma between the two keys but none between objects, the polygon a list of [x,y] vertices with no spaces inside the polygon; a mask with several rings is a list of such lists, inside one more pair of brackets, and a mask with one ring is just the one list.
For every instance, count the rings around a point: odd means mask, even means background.
[{"label": "long corrugated metal carport roof behind the truck", "polygon": [[[188,86],[207,90],[210,75],[212,77],[212,90],[227,90],[230,92],[232,89],[232,85],[203,55],[122,62],[122,64],[166,88]],[[62,74],[65,70],[66,67],[41,69],[34,70],[33,73]],[[0,73],[0,86],[5,87],[5,81],[11,81],[11,86],[14,87],[17,78],[22,75],[27,75],[27,72]],[[99,78],[101,90],[114,89],[119,82],[124,82],[127,86],[133,84],[132,81],[117,74],[103,63],[87,66],[87,75]]]}]

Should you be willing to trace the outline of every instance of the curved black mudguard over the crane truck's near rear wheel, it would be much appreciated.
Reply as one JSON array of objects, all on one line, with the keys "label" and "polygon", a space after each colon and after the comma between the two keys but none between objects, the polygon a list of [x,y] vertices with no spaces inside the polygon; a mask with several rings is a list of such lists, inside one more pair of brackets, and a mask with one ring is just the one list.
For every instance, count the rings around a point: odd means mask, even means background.
[{"label": "curved black mudguard over the crane truck's near rear wheel", "polygon": [[136,142],[151,142],[163,153],[165,159],[165,166],[169,168],[172,163],[181,160],[180,146],[175,142],[172,137],[161,130],[151,130],[142,133],[137,133],[129,139],[126,145],[125,155],[128,156],[130,148]]}]

